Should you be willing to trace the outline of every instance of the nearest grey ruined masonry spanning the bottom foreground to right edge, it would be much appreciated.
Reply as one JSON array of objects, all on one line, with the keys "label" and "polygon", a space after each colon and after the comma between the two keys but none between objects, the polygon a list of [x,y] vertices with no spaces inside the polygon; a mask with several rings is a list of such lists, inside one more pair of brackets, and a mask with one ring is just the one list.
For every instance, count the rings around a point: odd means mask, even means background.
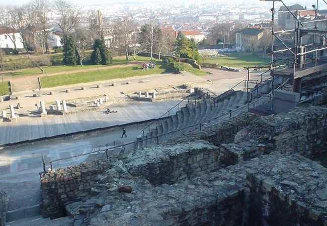
[{"label": "nearest grey ruined masonry spanning the bottom foreground to right edge", "polygon": [[[93,197],[66,206],[75,223],[327,224],[327,169],[299,155],[275,152],[172,185],[153,186],[142,176],[112,171],[105,175],[115,176],[92,188]],[[123,185],[131,193],[119,192]]]}]

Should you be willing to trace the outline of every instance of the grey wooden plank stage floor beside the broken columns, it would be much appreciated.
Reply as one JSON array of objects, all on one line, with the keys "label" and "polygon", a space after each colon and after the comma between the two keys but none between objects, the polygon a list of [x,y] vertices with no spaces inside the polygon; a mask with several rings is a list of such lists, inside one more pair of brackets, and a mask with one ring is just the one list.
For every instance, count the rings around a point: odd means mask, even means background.
[{"label": "grey wooden plank stage floor beside the broken columns", "polygon": [[[105,114],[103,111],[89,111],[66,116],[47,116],[18,119],[17,122],[3,122],[0,123],[0,145],[156,119],[178,101],[120,104],[113,108],[117,110],[117,113],[111,114]],[[171,114],[174,114],[175,111],[177,111],[177,107]]]}]

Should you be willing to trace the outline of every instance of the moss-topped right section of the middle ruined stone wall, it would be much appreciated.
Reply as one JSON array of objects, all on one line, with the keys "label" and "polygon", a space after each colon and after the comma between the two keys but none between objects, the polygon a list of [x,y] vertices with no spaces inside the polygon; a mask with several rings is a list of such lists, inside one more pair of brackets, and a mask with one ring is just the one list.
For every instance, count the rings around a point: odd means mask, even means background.
[{"label": "moss-topped right section of the middle ruined stone wall", "polygon": [[[143,154],[152,161],[143,159]],[[219,149],[207,142],[185,143],[165,148],[146,148],[128,163],[132,176],[144,176],[152,185],[173,184],[217,170]],[[136,163],[141,160],[142,164]],[[143,159],[143,160],[142,160]]]}]

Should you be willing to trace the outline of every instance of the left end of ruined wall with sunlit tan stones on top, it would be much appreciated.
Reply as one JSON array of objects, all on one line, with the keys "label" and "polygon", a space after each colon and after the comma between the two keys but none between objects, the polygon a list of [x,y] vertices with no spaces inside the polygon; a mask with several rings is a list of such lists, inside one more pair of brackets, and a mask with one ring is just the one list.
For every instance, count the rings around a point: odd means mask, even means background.
[{"label": "left end of ruined wall with sunlit tan stones on top", "polygon": [[42,214],[51,218],[64,216],[63,204],[90,193],[98,174],[109,165],[106,160],[97,160],[41,173]]}]

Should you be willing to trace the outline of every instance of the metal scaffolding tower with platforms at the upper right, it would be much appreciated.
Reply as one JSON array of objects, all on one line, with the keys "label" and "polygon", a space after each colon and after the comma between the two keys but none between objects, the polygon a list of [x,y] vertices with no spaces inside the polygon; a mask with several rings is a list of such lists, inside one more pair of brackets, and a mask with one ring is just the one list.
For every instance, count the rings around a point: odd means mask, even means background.
[{"label": "metal scaffolding tower with platforms at the upper right", "polygon": [[[320,2],[315,0],[312,10],[290,10],[282,0],[261,0],[272,2],[272,45],[271,45],[271,75],[282,76],[293,81],[293,91],[301,92],[301,79],[316,72],[327,69],[325,55],[327,16],[319,14]],[[282,3],[284,10],[276,11],[276,2]],[[314,15],[312,15],[314,12]],[[305,13],[311,13],[305,17]],[[294,23],[294,28],[276,24],[276,15],[287,14],[288,24]],[[327,15],[327,14],[326,14]],[[306,15],[307,16],[307,15]]]}]

